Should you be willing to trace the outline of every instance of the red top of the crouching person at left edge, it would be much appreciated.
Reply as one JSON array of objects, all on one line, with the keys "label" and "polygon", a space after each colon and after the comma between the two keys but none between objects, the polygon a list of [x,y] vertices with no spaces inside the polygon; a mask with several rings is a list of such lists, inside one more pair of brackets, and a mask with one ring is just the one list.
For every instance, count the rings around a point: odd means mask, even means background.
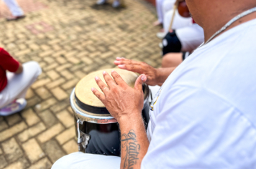
[{"label": "red top of the crouching person at left edge", "polygon": [[19,62],[4,49],[0,48],[0,92],[7,85],[6,70],[16,72],[19,68]]}]

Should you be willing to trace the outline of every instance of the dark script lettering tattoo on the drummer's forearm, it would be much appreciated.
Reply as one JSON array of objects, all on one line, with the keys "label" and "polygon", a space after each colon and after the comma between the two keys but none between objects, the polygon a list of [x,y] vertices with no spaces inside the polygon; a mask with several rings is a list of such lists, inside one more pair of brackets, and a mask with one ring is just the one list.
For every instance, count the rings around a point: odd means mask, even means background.
[{"label": "dark script lettering tattoo on the drummer's forearm", "polygon": [[122,150],[125,150],[124,168],[132,169],[137,163],[137,156],[140,154],[140,144],[137,144],[137,138],[134,130],[129,130],[128,134],[121,137]]}]

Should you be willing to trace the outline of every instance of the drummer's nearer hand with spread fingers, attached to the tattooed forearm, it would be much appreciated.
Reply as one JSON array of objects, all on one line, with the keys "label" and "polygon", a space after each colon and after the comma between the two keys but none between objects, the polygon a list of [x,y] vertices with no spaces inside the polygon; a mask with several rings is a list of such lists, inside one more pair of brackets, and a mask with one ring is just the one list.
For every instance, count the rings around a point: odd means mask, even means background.
[{"label": "drummer's nearer hand with spread fingers, attached to the tattooed forearm", "polygon": [[122,117],[134,117],[136,114],[141,114],[144,105],[142,83],[147,80],[145,74],[141,74],[137,78],[134,88],[129,87],[115,71],[111,72],[114,80],[107,72],[103,74],[107,85],[99,77],[96,77],[95,80],[104,94],[95,88],[91,88],[91,90],[103,102],[110,114],[118,122]]}]

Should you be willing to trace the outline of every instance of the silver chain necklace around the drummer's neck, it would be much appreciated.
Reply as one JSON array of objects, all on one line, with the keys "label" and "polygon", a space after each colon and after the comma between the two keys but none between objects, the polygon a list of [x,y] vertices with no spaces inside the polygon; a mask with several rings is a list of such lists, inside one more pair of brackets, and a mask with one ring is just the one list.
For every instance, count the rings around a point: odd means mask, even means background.
[{"label": "silver chain necklace around the drummer's neck", "polygon": [[233,19],[231,19],[229,22],[227,22],[227,24],[225,24],[225,26],[223,26],[221,29],[219,29],[219,31],[217,31],[213,36],[211,36],[210,39],[206,43],[201,44],[199,47],[204,46],[204,44],[208,44],[212,39],[214,39],[214,37],[216,37],[221,32],[224,32],[224,30],[226,30],[227,27],[229,27],[231,24],[233,24],[238,19],[240,19],[240,18],[242,18],[244,16],[247,16],[248,14],[251,14],[252,12],[255,12],[255,11],[256,11],[256,7],[252,8],[252,9],[249,9],[247,11],[244,11],[241,14],[235,16]]}]

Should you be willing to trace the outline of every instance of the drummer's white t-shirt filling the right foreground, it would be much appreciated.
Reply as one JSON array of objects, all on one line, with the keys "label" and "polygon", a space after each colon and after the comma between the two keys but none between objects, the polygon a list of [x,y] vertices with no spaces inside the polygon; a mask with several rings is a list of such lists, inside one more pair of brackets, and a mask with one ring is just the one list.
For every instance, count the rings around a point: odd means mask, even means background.
[{"label": "drummer's white t-shirt filling the right foreground", "polygon": [[256,19],[196,49],[150,111],[142,168],[256,168]]}]

